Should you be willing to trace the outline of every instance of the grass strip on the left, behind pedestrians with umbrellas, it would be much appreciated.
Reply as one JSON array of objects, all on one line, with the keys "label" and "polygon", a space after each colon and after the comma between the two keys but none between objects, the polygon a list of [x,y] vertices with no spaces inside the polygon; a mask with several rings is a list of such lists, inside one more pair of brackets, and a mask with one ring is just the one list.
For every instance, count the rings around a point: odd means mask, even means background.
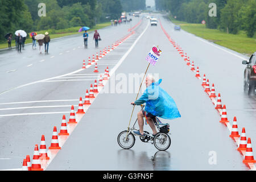
[{"label": "grass strip on the left, behind pedestrians with umbrellas", "polygon": [[[98,30],[98,29],[101,29],[101,28],[104,28],[104,27],[108,27],[110,25],[111,25],[111,22],[96,24],[96,26],[91,28],[88,32]],[[50,30],[40,30],[40,31],[36,31],[36,32],[38,34],[44,34],[45,32],[49,32],[49,36],[51,37],[51,39],[55,39],[55,38],[61,38],[63,36],[68,36],[68,35],[83,34],[84,32],[78,32],[79,28],[81,28],[81,27],[65,28],[65,29],[62,29],[62,30],[52,30],[52,29],[50,29]],[[30,34],[30,33],[27,33],[27,34]],[[13,36],[13,39],[14,39],[14,37],[15,36]],[[28,43],[32,43],[32,39],[30,38],[29,35],[27,36],[25,44],[28,44]],[[11,41],[11,47],[15,48],[15,40]],[[4,48],[8,48],[7,41],[0,43],[0,49],[4,49]]]}]

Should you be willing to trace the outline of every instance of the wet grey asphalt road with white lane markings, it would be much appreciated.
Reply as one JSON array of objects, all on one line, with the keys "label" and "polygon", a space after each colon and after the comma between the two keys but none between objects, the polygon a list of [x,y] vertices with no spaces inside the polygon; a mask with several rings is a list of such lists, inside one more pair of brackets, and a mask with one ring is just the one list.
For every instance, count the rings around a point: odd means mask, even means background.
[{"label": "wet grey asphalt road with white lane markings", "polygon": [[[244,65],[242,58],[247,58],[229,49],[212,45],[187,32],[174,31],[173,24],[159,16],[164,29],[184,49],[209,78],[210,85],[214,83],[216,93],[221,93],[222,104],[227,107],[228,119],[232,125],[233,117],[237,117],[238,130],[246,129],[246,137],[251,137],[252,147],[256,150],[255,140],[255,96],[243,94],[242,73]],[[133,25],[139,22],[134,19]],[[201,80],[195,78],[179,53],[172,47],[160,26],[148,26],[148,20],[143,19],[140,26],[125,42],[114,51],[108,53],[98,63],[100,73],[106,66],[110,71],[115,68],[122,56],[133,46],[123,63],[116,69],[108,85],[115,85],[114,93],[98,94],[96,100],[86,110],[86,114],[72,131],[62,149],[46,168],[47,170],[249,170],[242,163],[242,155],[236,151],[236,143],[229,137],[229,130],[220,122],[220,115],[214,109],[207,94],[201,86]],[[117,29],[118,28],[118,29]],[[115,40],[127,35],[130,25],[107,27],[100,30],[102,49]],[[110,36],[112,35],[112,36]],[[92,37],[92,35],[90,35]],[[1,103],[22,101],[46,101],[22,104],[1,104],[0,109],[9,107],[33,107],[23,109],[0,110],[0,169],[22,167],[24,156],[34,152],[34,145],[40,143],[41,135],[46,136],[47,147],[51,144],[53,126],[60,128],[62,115],[69,115],[70,105],[77,105],[79,97],[85,96],[85,90],[98,75],[93,73],[93,67],[68,77],[76,77],[80,81],[39,82],[22,88],[10,90],[15,86],[27,84],[49,77],[71,73],[80,69],[82,60],[96,52],[93,43],[84,50],[79,36],[62,38],[52,42],[49,55],[30,57],[30,53],[17,56],[16,52],[1,53]],[[158,151],[150,143],[142,143],[138,137],[133,148],[122,150],[117,144],[117,135],[126,130],[132,110],[130,102],[135,100],[136,92],[128,92],[129,84],[118,90],[118,82],[129,74],[142,74],[147,67],[145,60],[147,52],[153,46],[162,48],[162,55],[155,67],[150,66],[148,73],[162,78],[160,86],[175,100],[180,110],[181,118],[172,121],[163,119],[171,125],[171,147],[167,151]],[[79,48],[79,46],[81,48]],[[54,47],[54,48],[53,48]],[[92,47],[92,48],[90,48]],[[73,48],[76,48],[73,50]],[[98,48],[100,49],[100,48]],[[98,50],[97,49],[97,50]],[[100,49],[101,50],[101,49]],[[67,52],[69,51],[69,52]],[[227,52],[228,51],[228,52]],[[99,51],[98,51],[99,52]],[[60,55],[60,53],[62,53]],[[15,55],[14,55],[15,54]],[[14,57],[11,57],[14,56]],[[52,57],[51,56],[55,56]],[[25,57],[25,58],[23,58]],[[40,62],[40,60],[43,60]],[[32,64],[30,67],[27,65]],[[232,65],[232,66],[231,66]],[[16,69],[14,72],[7,71]],[[11,76],[10,76],[11,74]],[[80,74],[80,75],[79,75]],[[83,74],[83,75],[82,75]],[[95,75],[84,75],[95,74]],[[80,76],[80,78],[78,78]],[[117,76],[117,77],[115,77]],[[119,76],[119,78],[118,78]],[[82,77],[82,78],[81,78]],[[3,78],[3,79],[2,79]],[[115,78],[115,79],[114,79]],[[72,78],[65,78],[73,80]],[[64,80],[65,80],[64,79]],[[81,80],[84,79],[84,80]],[[63,80],[61,78],[60,80]],[[115,80],[115,83],[114,83]],[[54,82],[53,82],[54,81]],[[110,86],[111,88],[111,86]],[[10,90],[10,92],[5,92]],[[55,100],[55,102],[49,102]],[[57,101],[56,101],[57,100]],[[64,101],[70,100],[70,101]],[[54,106],[40,107],[36,106]],[[135,121],[139,108],[135,108],[132,122]],[[3,116],[16,113],[61,112],[56,114],[36,114]],[[2,115],[2,116],[1,116]],[[67,117],[68,118],[68,117]],[[145,126],[146,131],[150,131]],[[210,152],[216,152],[217,163],[209,164]],[[255,153],[255,152],[254,152]]]}]

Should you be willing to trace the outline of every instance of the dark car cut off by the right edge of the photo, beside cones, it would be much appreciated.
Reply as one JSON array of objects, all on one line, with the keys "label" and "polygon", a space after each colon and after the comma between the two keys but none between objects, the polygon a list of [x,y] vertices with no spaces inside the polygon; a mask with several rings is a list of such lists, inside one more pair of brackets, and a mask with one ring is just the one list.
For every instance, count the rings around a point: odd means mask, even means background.
[{"label": "dark car cut off by the right edge of the photo, beside cones", "polygon": [[256,88],[256,52],[251,55],[249,61],[242,61],[242,64],[246,64],[245,71],[243,73],[243,90],[250,94],[255,94]]}]

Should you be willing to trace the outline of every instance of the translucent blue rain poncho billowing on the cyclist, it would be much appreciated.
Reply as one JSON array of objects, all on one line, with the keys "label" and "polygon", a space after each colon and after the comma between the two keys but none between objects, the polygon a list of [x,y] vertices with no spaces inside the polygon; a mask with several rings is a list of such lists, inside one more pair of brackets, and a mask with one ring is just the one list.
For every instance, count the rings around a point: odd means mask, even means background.
[{"label": "translucent blue rain poncho billowing on the cyclist", "polygon": [[171,96],[166,91],[160,88],[160,79],[152,83],[146,88],[142,96],[134,102],[136,105],[141,105],[146,102],[144,111],[164,119],[175,119],[181,117],[177,106]]}]

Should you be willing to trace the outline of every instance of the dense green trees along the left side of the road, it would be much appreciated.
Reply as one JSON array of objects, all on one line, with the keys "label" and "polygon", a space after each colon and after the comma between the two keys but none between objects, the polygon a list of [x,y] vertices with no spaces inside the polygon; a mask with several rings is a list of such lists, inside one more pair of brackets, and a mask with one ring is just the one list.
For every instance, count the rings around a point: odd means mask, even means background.
[{"label": "dense green trees along the left side of the road", "polygon": [[[118,19],[123,10],[144,9],[146,0],[12,0],[0,1],[0,40],[11,32],[60,30],[93,27]],[[127,3],[129,2],[129,3]],[[139,3],[138,3],[139,2]],[[144,2],[144,3],[143,3]],[[46,16],[39,16],[39,3],[46,5]],[[129,5],[129,6],[128,6]],[[139,5],[139,6],[138,6]],[[125,8],[123,8],[125,7]]]}]

